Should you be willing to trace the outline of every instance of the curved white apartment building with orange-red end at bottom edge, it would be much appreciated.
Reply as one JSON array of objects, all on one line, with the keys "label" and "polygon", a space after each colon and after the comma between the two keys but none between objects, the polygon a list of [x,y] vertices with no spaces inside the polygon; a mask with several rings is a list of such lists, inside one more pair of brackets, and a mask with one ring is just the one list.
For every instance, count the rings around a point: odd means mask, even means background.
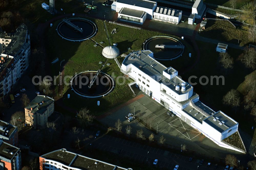
[{"label": "curved white apartment building with orange-red end at bottom edge", "polygon": [[83,155],[59,149],[39,157],[40,170],[82,170],[82,169],[104,169],[104,170],[132,170],[117,165],[92,159]]}]

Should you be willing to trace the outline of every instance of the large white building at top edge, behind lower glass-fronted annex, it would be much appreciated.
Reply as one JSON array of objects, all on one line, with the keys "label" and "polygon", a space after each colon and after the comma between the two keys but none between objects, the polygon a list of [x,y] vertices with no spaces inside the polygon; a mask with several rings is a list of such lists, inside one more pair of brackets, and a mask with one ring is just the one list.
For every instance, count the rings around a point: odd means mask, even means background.
[{"label": "large white building at top edge, behind lower glass-fronted annex", "polygon": [[147,13],[147,19],[153,18],[153,11],[156,8],[157,3],[154,1],[148,1],[148,0],[118,0],[116,1],[116,12],[119,13],[119,11],[122,8],[129,8],[139,11],[145,11]]}]

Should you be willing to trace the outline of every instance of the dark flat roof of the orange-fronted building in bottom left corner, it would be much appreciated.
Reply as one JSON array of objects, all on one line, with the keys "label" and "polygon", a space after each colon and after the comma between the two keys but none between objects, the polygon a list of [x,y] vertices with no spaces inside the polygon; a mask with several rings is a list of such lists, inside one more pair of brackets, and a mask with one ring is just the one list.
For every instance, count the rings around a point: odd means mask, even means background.
[{"label": "dark flat roof of the orange-fronted building in bottom left corner", "polygon": [[19,151],[19,148],[10,145],[6,142],[0,141],[0,159],[12,160],[16,153]]}]

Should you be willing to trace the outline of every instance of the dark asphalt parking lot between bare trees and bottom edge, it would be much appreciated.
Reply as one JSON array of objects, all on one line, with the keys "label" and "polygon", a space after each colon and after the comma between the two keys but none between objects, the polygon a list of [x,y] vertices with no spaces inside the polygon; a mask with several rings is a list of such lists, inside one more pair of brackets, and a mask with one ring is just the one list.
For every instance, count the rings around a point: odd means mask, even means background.
[{"label": "dark asphalt parking lot between bare trees and bottom edge", "polygon": [[[96,139],[93,142],[93,147],[113,153],[117,153],[117,151],[123,149],[121,156],[127,156],[131,159],[139,160],[141,162],[147,162],[148,160],[150,166],[153,166],[153,161],[158,159],[157,166],[166,167],[168,169],[173,169],[175,165],[179,165],[180,170],[214,168],[214,165],[207,167],[208,162],[204,162],[203,165],[199,165],[199,160],[196,159],[193,159],[191,162],[189,162],[189,156],[171,153],[162,149],[142,145],[140,143],[108,135],[104,135]],[[220,170],[223,168],[223,166],[218,166],[217,169]]]}]

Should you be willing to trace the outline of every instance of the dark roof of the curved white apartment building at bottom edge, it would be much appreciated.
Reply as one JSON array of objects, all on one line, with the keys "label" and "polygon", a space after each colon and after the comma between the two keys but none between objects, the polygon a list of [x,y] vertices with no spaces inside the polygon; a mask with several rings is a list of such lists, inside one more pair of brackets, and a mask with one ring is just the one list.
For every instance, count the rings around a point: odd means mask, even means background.
[{"label": "dark roof of the curved white apartment building at bottom edge", "polygon": [[[97,169],[113,170],[114,167],[117,167],[116,169],[127,170],[127,168],[119,167],[119,166],[109,164],[109,163],[106,163],[103,161],[92,159],[90,157],[86,157],[86,156],[79,155],[79,154],[76,154],[73,152],[69,152],[66,149],[59,149],[56,151],[52,151],[52,152],[44,154],[40,157],[47,159],[47,160],[60,162],[69,167],[79,168],[79,169],[83,169],[83,170],[84,169],[86,169],[86,170],[87,169],[88,170],[95,169],[96,168],[95,162],[97,162]],[[90,168],[88,168],[88,166]]]}]

